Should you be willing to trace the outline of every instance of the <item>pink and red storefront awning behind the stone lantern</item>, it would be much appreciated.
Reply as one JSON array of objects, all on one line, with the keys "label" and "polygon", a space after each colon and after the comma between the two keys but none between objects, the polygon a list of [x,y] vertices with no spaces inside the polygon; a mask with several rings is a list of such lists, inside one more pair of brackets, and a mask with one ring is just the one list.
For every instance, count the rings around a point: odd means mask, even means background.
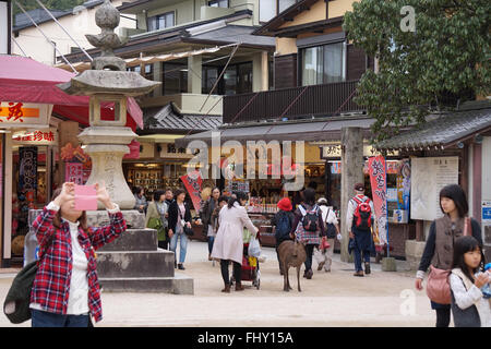
[{"label": "pink and red storefront awning behind the stone lantern", "polygon": [[[75,74],[39,63],[31,58],[0,55],[0,101],[53,105],[53,113],[88,125],[88,96],[72,96],[57,84]],[[103,105],[103,119],[111,115],[111,104]],[[127,127],[143,129],[143,112],[133,98],[128,98]]]}]

